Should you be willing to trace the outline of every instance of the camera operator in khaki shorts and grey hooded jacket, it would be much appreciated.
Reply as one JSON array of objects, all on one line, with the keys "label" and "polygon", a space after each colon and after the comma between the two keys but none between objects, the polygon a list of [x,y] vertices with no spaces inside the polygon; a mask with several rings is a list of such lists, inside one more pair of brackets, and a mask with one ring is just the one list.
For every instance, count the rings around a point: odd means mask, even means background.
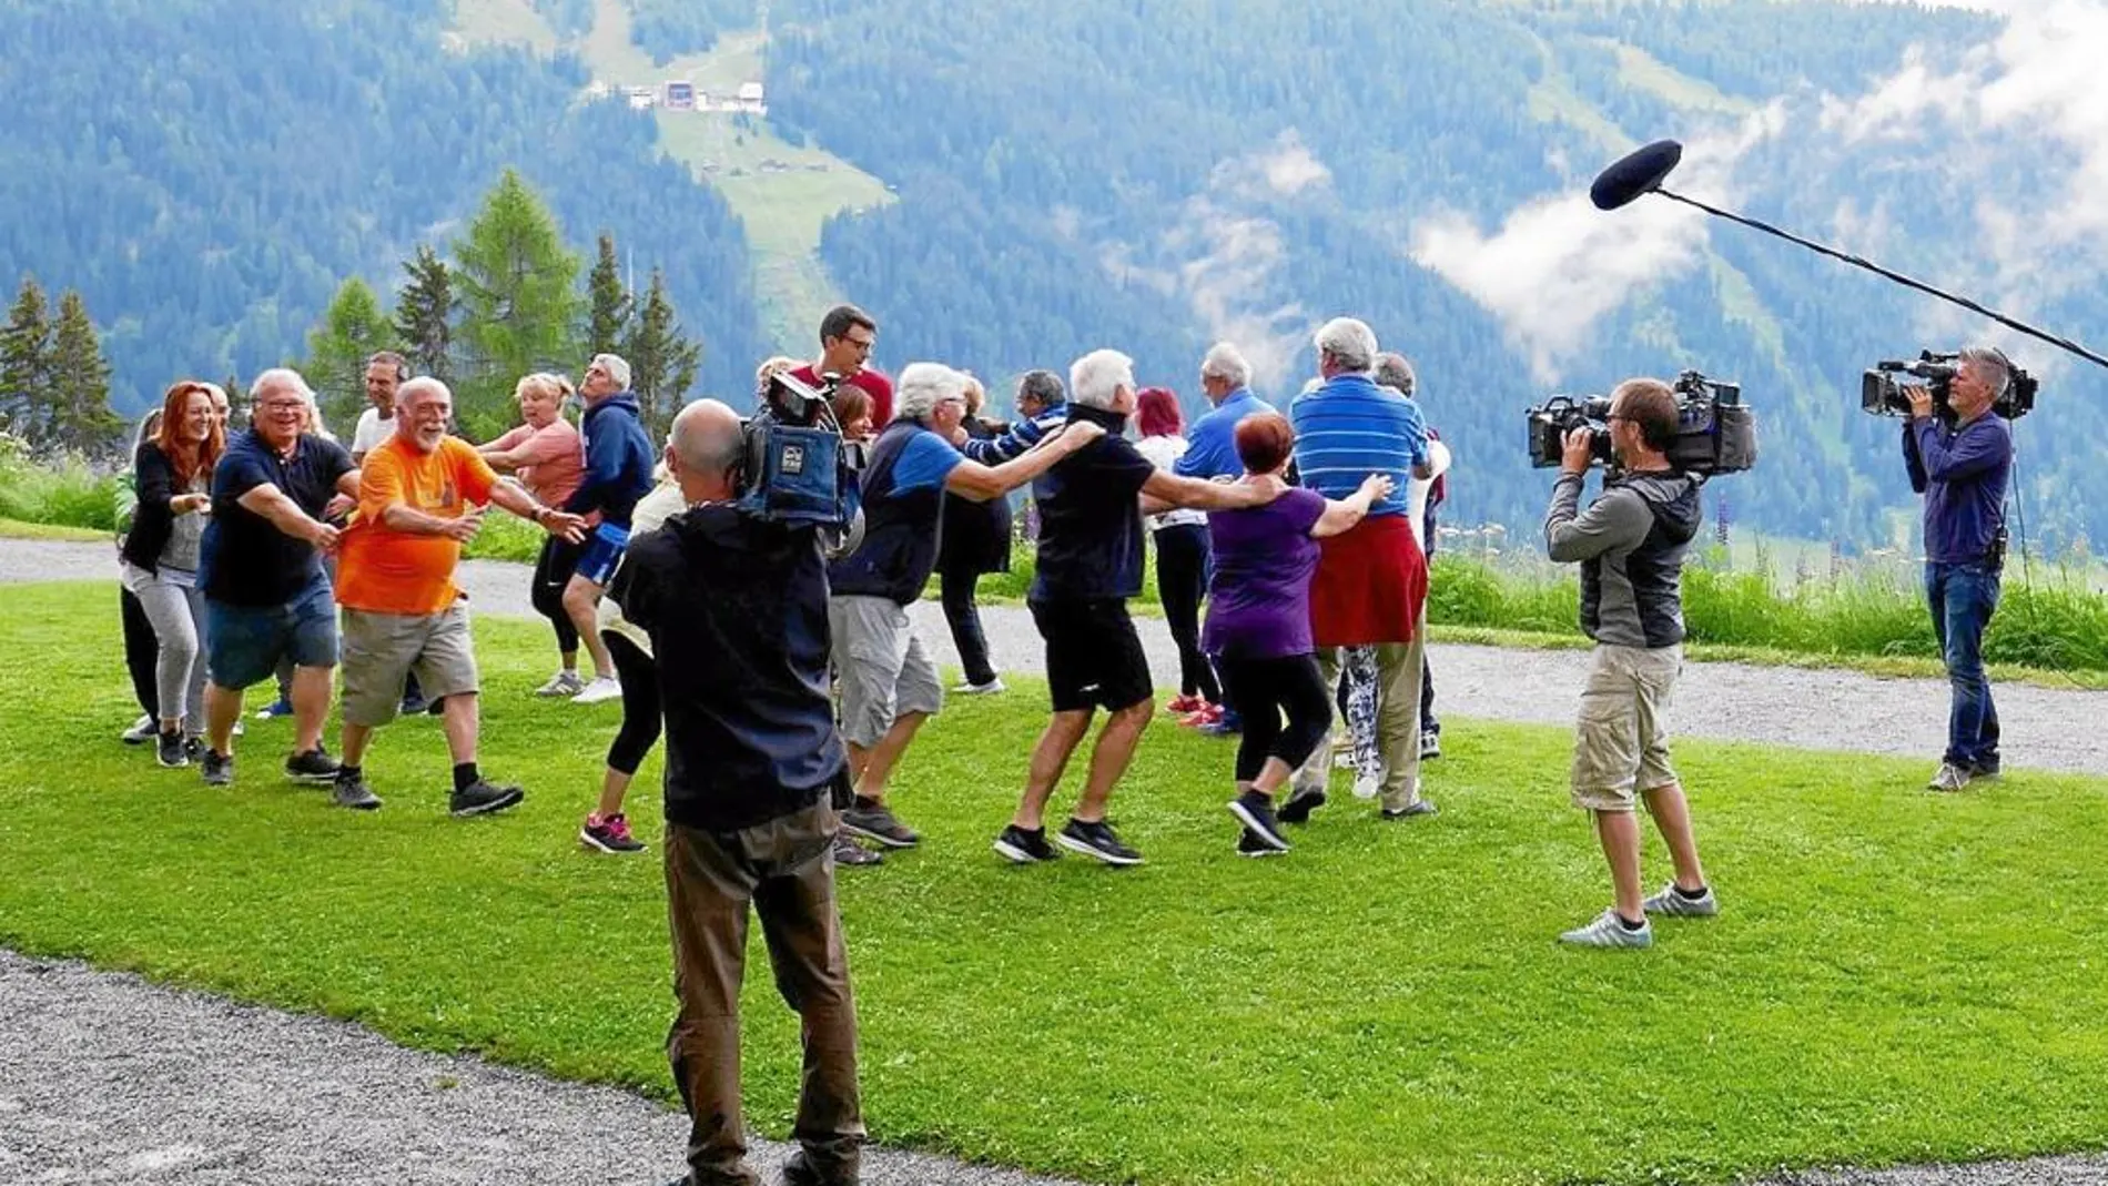
[{"label": "camera operator in khaki shorts and grey hooded jacket", "polygon": [[[1684,788],[1670,767],[1665,720],[1684,666],[1684,548],[1703,510],[1699,478],[1667,459],[1678,426],[1676,392],[1667,383],[1625,379],[1611,394],[1604,419],[1619,472],[1606,476],[1602,495],[1577,514],[1596,430],[1566,434],[1560,480],[1545,512],[1545,550],[1558,562],[1581,565],[1581,630],[1596,640],[1596,651],[1575,725],[1573,798],[1596,817],[1617,904],[1560,942],[1646,948],[1655,942],[1648,914],[1720,912],[1699,868]],[[1644,902],[1634,792],[1646,800],[1676,864],[1676,881]]]}]

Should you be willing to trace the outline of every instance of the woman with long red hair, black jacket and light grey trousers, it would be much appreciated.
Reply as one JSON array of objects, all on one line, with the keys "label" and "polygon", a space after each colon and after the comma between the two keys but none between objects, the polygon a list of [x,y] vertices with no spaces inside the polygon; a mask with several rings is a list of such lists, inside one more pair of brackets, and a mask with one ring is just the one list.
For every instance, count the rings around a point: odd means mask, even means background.
[{"label": "woman with long red hair, black jacket and light grey trousers", "polygon": [[122,579],[154,626],[160,714],[154,756],[164,767],[188,767],[190,748],[204,733],[204,590],[198,588],[198,550],[213,508],[213,466],[226,442],[213,409],[213,386],[186,379],[162,396],[160,423],[133,455],[139,508],[124,535]]}]

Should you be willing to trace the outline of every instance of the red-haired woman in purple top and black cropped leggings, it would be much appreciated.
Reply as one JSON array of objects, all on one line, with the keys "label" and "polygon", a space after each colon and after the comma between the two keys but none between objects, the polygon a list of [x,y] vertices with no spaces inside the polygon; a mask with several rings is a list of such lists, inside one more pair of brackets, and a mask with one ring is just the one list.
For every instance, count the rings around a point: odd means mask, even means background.
[{"label": "red-haired woman in purple top and black cropped leggings", "polygon": [[[1256,413],[1237,421],[1235,440],[1244,461],[1240,480],[1256,482],[1288,470],[1296,430],[1280,413]],[[1229,803],[1229,813],[1244,824],[1237,841],[1244,855],[1288,851],[1273,792],[1332,727],[1332,695],[1311,636],[1318,541],[1362,522],[1370,503],[1389,493],[1391,478],[1370,474],[1345,499],[1299,487],[1261,508],[1208,516],[1214,579],[1202,643],[1221,664],[1223,685],[1244,716],[1237,798]]]}]

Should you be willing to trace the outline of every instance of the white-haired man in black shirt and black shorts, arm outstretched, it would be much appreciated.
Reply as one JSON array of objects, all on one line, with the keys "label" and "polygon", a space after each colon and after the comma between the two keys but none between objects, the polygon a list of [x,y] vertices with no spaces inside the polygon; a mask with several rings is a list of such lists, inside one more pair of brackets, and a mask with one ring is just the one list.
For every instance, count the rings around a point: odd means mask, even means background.
[{"label": "white-haired man in black shirt and black shorts, arm outstretched", "polygon": [[1143,864],[1105,819],[1113,784],[1134,758],[1155,706],[1149,655],[1128,617],[1128,598],[1143,592],[1143,512],[1237,510],[1265,506],[1284,491],[1280,478],[1229,487],[1157,470],[1121,436],[1134,407],[1132,358],[1117,350],[1077,358],[1069,367],[1069,432],[1096,423],[1105,436],[1033,482],[1039,565],[1027,605],[1048,645],[1054,716],[1033,748],[1024,796],[995,838],[995,851],[1018,864],[1060,855],[1048,843],[1046,807],[1098,708],[1109,716],[1090,754],[1084,796],[1054,843],[1111,866]]}]

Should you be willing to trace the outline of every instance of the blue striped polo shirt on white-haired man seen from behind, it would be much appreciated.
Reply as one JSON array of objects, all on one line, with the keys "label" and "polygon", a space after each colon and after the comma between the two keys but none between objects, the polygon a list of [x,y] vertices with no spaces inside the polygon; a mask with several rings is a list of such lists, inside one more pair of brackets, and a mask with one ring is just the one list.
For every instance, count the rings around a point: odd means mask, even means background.
[{"label": "blue striped polo shirt on white-haired man seen from behind", "polygon": [[1370,474],[1389,474],[1391,495],[1368,514],[1406,514],[1412,466],[1427,463],[1427,421],[1417,402],[1368,375],[1334,375],[1288,404],[1288,423],[1305,487],[1343,499]]}]

